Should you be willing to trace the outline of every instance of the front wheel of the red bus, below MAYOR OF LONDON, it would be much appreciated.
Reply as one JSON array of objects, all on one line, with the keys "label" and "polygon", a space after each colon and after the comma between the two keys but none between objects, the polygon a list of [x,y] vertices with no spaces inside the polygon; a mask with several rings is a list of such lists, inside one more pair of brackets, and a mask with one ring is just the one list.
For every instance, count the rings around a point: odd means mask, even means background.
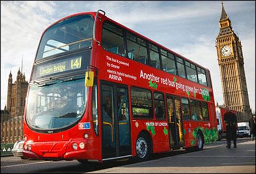
[{"label": "front wheel of the red bus, below MAYOR OF LONDON", "polygon": [[152,141],[146,133],[140,133],[136,140],[136,160],[144,161],[152,154]]}]

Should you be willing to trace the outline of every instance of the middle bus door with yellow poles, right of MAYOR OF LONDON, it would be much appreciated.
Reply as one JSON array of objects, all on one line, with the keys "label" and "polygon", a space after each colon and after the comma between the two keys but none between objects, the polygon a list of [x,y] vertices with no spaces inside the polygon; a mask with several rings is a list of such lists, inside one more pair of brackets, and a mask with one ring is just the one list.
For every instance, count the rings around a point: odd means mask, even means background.
[{"label": "middle bus door with yellow poles, right of MAYOR OF LONDON", "polygon": [[180,97],[167,95],[170,147],[184,146]]}]

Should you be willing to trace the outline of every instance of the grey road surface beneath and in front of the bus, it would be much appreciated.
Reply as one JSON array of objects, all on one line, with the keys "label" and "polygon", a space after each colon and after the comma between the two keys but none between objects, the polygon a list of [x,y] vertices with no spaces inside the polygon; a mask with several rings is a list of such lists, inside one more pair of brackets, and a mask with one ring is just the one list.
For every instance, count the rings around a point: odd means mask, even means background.
[{"label": "grey road surface beneath and in front of the bus", "polygon": [[204,146],[202,151],[155,154],[147,162],[117,160],[89,165],[72,161],[1,158],[1,173],[255,173],[255,141],[238,138],[237,149],[227,149],[225,141]]}]

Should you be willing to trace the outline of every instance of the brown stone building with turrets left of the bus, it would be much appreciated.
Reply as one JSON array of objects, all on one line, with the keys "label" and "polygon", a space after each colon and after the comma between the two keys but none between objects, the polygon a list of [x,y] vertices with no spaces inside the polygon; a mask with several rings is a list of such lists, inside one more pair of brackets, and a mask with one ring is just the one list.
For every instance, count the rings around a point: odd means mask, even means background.
[{"label": "brown stone building with turrets left of the bus", "polygon": [[28,82],[25,75],[17,73],[12,83],[12,74],[8,78],[7,106],[1,110],[1,143],[14,143],[23,138],[23,112]]}]

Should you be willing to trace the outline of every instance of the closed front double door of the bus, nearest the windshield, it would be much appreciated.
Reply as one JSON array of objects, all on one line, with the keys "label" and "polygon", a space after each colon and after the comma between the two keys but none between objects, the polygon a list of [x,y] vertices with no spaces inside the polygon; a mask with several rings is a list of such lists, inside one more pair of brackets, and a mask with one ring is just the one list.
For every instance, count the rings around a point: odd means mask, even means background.
[{"label": "closed front double door of the bus, nearest the windshield", "polygon": [[101,83],[101,125],[103,160],[131,155],[128,88]]}]

